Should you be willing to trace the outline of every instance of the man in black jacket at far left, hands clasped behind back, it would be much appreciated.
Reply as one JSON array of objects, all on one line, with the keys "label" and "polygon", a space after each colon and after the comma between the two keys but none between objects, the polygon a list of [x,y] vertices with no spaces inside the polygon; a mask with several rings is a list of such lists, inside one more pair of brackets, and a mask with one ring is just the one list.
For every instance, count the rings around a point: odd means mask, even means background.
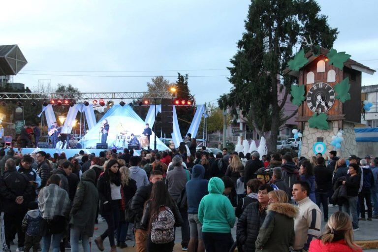
[{"label": "man in black jacket at far left, hands clasped behind back", "polygon": [[8,248],[17,233],[18,248],[23,251],[25,233],[21,224],[28,211],[32,192],[32,185],[24,174],[17,172],[14,160],[6,160],[5,172],[0,179],[0,195],[2,212],[4,212],[5,243]]}]

